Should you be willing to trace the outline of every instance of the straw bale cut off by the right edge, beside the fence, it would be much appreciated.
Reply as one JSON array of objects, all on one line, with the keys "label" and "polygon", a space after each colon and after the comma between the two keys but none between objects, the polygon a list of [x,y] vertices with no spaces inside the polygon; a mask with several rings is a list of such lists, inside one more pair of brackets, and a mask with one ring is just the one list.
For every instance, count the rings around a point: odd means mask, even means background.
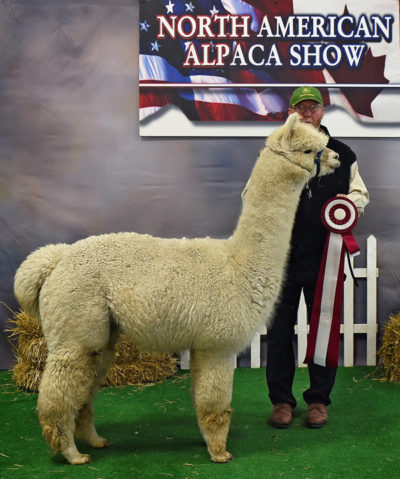
[{"label": "straw bale cut off by the right edge, beside the fence", "polygon": [[400,312],[391,315],[385,325],[378,357],[382,380],[400,382]]}]

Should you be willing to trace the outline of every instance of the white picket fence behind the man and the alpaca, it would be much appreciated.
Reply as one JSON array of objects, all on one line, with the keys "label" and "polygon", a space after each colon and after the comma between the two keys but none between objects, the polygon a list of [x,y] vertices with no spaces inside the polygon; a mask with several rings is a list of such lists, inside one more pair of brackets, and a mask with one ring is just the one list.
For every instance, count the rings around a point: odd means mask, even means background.
[{"label": "white picket fence behind the man and the alpaca", "polygon": [[[354,281],[351,276],[348,262],[345,263],[345,274],[347,276],[344,282],[343,291],[343,322],[340,325],[340,333],[343,335],[343,365],[354,366],[354,338],[356,334],[366,335],[366,360],[365,365],[376,365],[376,335],[377,335],[377,278],[379,270],[377,268],[377,249],[376,238],[369,236],[367,239],[367,266],[366,268],[354,268],[354,260],[351,259],[353,273],[356,279],[366,280],[366,318],[363,323],[354,323]],[[359,281],[359,287],[364,286],[363,281]],[[295,334],[297,335],[297,357],[299,366],[306,354],[307,334],[309,326],[307,324],[306,305],[303,294],[301,295],[300,305],[297,312],[297,325]],[[261,366],[261,336],[267,334],[267,331],[261,331],[256,334],[250,345],[250,366],[259,368]],[[190,369],[190,353],[182,351],[181,369]]]}]

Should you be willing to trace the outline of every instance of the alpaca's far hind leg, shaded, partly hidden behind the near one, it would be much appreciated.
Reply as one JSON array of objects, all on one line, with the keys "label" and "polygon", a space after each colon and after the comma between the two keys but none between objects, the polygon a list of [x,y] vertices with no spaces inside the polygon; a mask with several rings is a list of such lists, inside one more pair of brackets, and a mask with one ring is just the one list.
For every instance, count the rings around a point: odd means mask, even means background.
[{"label": "alpaca's far hind leg, shaded, partly hidden behind the near one", "polygon": [[81,410],[78,413],[75,422],[75,437],[77,439],[82,439],[86,441],[90,446],[96,448],[102,448],[109,446],[109,442],[99,436],[96,431],[93,418],[93,399],[96,395],[98,387],[103,384],[107,372],[111,366],[112,360],[114,357],[114,344],[109,348],[101,351],[98,354],[97,364],[96,364],[96,382],[93,386],[92,391],[90,391],[89,398],[87,402],[83,405]]}]

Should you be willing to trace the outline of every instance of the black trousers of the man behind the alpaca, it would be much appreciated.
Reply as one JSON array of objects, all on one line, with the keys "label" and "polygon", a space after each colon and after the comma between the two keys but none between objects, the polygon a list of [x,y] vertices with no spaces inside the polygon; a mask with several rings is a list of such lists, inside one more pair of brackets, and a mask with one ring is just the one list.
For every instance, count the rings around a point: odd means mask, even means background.
[{"label": "black trousers of the man behind the alpaca", "polygon": [[[318,266],[316,267],[318,270]],[[297,401],[292,393],[295,373],[295,355],[293,347],[294,326],[297,319],[297,309],[301,290],[307,305],[308,320],[311,317],[316,278],[306,282],[296,282],[290,271],[275,308],[274,319],[267,333],[267,384],[272,404],[285,402],[296,407]],[[303,358],[299,358],[300,361]],[[331,403],[330,393],[335,384],[336,368],[328,368],[311,363],[308,365],[310,387],[303,393],[307,404]]]}]

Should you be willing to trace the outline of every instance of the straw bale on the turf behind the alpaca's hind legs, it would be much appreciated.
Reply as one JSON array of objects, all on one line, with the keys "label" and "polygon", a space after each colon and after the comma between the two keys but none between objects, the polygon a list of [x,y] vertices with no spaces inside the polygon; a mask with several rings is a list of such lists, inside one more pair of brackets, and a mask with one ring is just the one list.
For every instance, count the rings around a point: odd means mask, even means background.
[{"label": "straw bale on the turf behind the alpaca's hind legs", "polygon": [[[7,331],[17,358],[13,379],[18,387],[37,392],[47,358],[40,322],[20,311],[13,313],[10,324]],[[159,382],[173,376],[176,371],[176,357],[140,351],[126,336],[121,335],[104,385],[128,386]]]}]

